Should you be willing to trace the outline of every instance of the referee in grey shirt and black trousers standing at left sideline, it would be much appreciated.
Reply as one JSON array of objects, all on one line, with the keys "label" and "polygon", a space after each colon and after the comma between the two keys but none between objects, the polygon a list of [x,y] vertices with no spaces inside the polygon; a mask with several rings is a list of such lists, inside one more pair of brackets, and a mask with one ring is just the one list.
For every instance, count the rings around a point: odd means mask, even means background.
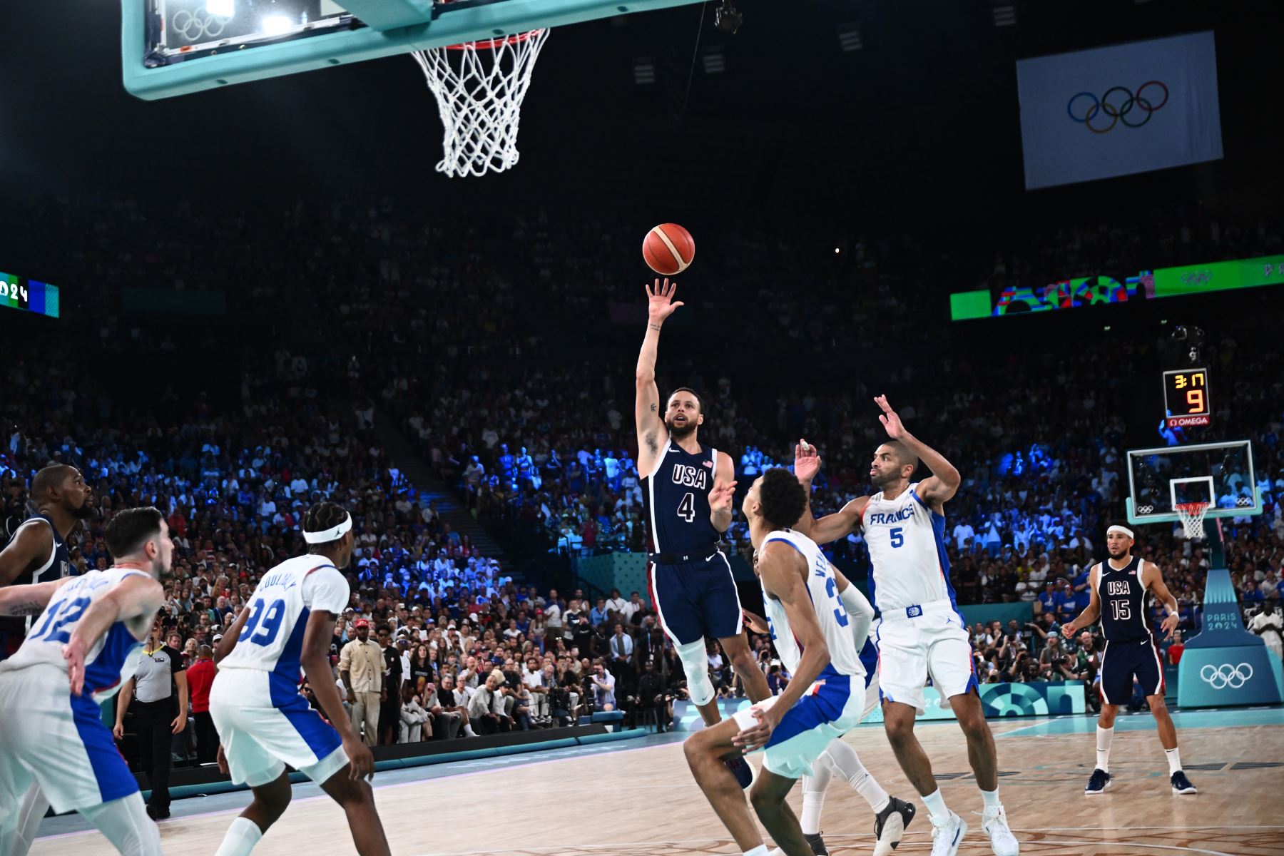
[{"label": "referee in grey shirt and black trousers standing at left sideline", "polygon": [[126,712],[130,714],[130,730],[139,738],[139,769],[146,771],[152,785],[148,816],[153,820],[169,816],[169,744],[187,725],[187,674],[182,667],[182,652],[164,644],[163,639],[164,628],[158,617],[139,657],[139,669],[121,685],[116,706],[116,739],[125,737]]}]

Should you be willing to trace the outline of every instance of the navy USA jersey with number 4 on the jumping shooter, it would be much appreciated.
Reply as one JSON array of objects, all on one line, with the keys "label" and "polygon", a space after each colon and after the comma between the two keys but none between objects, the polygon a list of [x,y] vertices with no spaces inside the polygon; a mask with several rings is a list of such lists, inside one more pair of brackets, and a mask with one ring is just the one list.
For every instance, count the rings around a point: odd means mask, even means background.
[{"label": "navy USA jersey with number 4 on the jumping shooter", "polygon": [[688,454],[672,440],[660,449],[655,472],[642,477],[642,506],[652,553],[713,549],[722,534],[709,520],[718,450]]}]

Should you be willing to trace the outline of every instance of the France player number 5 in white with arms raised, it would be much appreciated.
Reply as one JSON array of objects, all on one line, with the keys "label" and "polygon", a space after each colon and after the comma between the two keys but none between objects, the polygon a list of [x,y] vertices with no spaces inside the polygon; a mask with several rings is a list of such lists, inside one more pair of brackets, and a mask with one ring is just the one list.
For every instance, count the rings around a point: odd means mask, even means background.
[{"label": "France player number 5 in white with arms raised", "polygon": [[[869,594],[882,612],[877,644],[883,726],[905,778],[931,812],[932,856],[954,856],[967,834],[967,823],[945,806],[932,762],[914,737],[914,715],[924,710],[923,685],[928,678],[949,699],[967,737],[968,760],[985,802],[981,829],[996,856],[1017,856],[1019,844],[999,802],[994,737],[981,710],[972,646],[954,599],[945,554],[945,503],[954,497],[962,476],[945,456],[901,425],[886,395],[874,402],[882,409],[878,420],[887,441],[874,449],[869,480],[881,490],[815,521],[810,535],[824,544],[859,530],[869,545]],[[919,461],[932,475],[912,483]],[[820,468],[814,447],[800,452],[794,468],[810,493],[811,479]],[[809,509],[800,529],[810,516]]]}]

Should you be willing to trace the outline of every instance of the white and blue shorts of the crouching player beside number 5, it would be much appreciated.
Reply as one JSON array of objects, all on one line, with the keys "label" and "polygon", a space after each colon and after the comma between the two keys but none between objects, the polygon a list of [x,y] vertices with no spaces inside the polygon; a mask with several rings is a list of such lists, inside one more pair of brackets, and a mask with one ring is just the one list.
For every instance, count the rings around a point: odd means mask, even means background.
[{"label": "white and blue shorts of the crouching player beside number 5", "polygon": [[[778,699],[779,696],[772,696],[738,711],[736,723],[742,729],[750,728],[758,721],[754,708],[769,710]],[[864,676],[840,675],[827,667],[772,732],[763,749],[763,766],[787,779],[811,775],[811,762],[820,757],[829,743],[860,724],[863,710]]]}]

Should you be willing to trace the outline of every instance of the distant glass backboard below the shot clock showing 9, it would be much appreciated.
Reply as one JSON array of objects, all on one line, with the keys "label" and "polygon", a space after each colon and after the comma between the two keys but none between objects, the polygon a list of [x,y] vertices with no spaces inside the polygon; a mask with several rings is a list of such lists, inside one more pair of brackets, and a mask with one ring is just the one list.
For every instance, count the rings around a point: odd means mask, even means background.
[{"label": "distant glass backboard below the shot clock showing 9", "polygon": [[1207,502],[1207,517],[1262,513],[1248,440],[1131,449],[1127,453],[1127,518],[1176,522],[1176,506]]}]

